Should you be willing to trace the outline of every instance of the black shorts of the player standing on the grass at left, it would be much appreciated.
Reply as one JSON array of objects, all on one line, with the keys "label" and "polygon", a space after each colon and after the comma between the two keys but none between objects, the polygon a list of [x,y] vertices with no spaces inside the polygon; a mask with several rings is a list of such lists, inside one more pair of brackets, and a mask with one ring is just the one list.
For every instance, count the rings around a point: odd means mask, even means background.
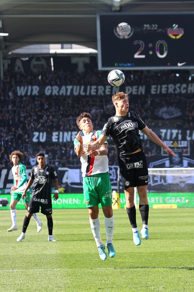
[{"label": "black shorts of the player standing on the grass at left", "polygon": [[44,215],[52,214],[52,201],[45,199],[37,199],[35,197],[30,198],[30,203],[28,206],[29,213],[39,213],[41,207],[41,213]]}]

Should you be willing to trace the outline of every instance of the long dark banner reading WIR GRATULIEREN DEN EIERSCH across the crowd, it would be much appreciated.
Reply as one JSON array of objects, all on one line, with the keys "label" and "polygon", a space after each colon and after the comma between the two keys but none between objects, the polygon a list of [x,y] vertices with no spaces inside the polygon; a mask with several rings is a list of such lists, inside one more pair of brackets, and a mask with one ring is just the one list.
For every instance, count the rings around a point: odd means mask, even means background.
[{"label": "long dark banner reading WIR GRATULIEREN DEN EIERSCH across the crowd", "polygon": [[[194,83],[158,84],[158,85],[124,85],[113,87],[111,85],[27,85],[15,86],[17,96],[45,94],[47,96],[110,96],[118,91],[128,95],[158,95],[158,94],[185,94],[194,93]],[[171,117],[172,118],[172,117]]]}]

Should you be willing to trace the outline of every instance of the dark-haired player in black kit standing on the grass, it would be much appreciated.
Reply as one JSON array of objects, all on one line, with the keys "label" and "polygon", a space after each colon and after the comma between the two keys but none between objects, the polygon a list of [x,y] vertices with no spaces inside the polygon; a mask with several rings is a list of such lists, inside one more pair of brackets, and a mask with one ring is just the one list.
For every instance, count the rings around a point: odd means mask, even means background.
[{"label": "dark-haired player in black kit standing on the grass", "polygon": [[33,213],[35,213],[34,210],[36,210],[36,213],[38,213],[41,207],[41,213],[46,215],[47,217],[47,225],[49,232],[48,241],[56,241],[53,238],[53,218],[51,215],[52,214],[51,184],[53,179],[55,184],[55,194],[53,198],[55,198],[54,200],[57,200],[58,199],[57,174],[52,166],[45,164],[44,153],[38,153],[36,157],[38,165],[33,166],[31,170],[31,177],[23,192],[22,199],[25,198],[26,191],[31,187],[34,181],[32,197],[30,199],[30,203],[28,206],[27,215],[24,218],[24,224],[21,235],[16,240],[22,241],[22,239],[25,238],[25,232],[30,222],[30,218],[32,217]]}]

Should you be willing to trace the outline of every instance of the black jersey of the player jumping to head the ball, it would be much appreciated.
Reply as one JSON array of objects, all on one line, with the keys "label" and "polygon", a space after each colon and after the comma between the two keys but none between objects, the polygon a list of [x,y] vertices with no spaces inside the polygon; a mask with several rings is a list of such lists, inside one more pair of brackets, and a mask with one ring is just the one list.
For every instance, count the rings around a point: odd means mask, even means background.
[{"label": "black jersey of the player jumping to head the ball", "polygon": [[124,157],[126,154],[135,152],[139,147],[143,149],[139,130],[144,129],[145,126],[136,112],[127,112],[124,117],[115,115],[109,118],[102,134],[113,138],[117,155]]}]

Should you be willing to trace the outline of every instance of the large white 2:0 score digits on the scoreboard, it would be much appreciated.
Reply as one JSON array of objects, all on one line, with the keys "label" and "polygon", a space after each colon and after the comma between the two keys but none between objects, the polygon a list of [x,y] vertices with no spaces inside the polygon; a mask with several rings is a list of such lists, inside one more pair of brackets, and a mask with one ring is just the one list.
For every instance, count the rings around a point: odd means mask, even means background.
[{"label": "large white 2:0 score digits on the scoreboard", "polygon": [[[140,48],[139,50],[134,54],[134,58],[145,58],[145,55],[140,55],[140,53],[143,51],[145,45],[144,45],[144,42],[141,41],[141,40],[137,40],[137,41],[134,41],[133,42],[133,45],[140,45]],[[160,51],[159,51],[159,47],[160,45],[163,45],[163,48],[164,48],[164,54],[161,55],[160,54]],[[149,44],[149,47],[152,47],[152,44]],[[159,40],[156,42],[155,44],[155,53],[157,55],[158,58],[165,58],[167,53],[168,53],[168,46],[167,46],[167,43],[164,41],[164,40]],[[149,54],[152,54],[152,51],[149,52]]]}]

